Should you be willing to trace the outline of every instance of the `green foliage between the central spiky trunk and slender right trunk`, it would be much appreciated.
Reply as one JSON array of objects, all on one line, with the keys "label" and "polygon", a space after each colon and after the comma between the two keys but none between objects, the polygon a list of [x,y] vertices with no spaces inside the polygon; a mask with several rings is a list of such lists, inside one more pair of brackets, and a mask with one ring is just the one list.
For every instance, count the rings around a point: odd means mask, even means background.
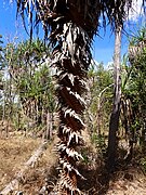
[{"label": "green foliage between the central spiky trunk and slender right trunk", "polygon": [[107,131],[112,101],[112,70],[104,64],[94,65],[89,70],[90,103],[89,112],[92,117],[92,132],[97,129]]}]

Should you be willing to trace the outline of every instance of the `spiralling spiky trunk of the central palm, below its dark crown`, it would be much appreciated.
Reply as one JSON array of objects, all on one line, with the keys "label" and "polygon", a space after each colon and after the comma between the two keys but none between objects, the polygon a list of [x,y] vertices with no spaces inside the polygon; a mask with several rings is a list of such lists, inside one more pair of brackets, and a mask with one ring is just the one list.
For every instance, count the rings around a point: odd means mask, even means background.
[{"label": "spiralling spiky trunk of the central palm, below its dark crown", "polygon": [[82,94],[85,90],[87,70],[90,65],[90,47],[87,32],[72,22],[63,25],[59,35],[61,43],[53,51],[53,65],[57,68],[57,89],[59,100],[61,139],[57,150],[59,153],[58,190],[62,194],[78,191],[76,162],[82,158],[78,146],[82,144],[81,130],[84,129],[82,113],[85,102]]}]

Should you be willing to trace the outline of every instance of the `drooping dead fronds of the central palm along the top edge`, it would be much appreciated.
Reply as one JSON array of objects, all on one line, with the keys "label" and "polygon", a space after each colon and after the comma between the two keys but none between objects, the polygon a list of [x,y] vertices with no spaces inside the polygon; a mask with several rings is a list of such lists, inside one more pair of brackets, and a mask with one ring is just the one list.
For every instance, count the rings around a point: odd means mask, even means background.
[{"label": "drooping dead fronds of the central palm along the top edge", "polygon": [[[97,32],[99,18],[103,24],[123,25],[133,0],[17,0],[17,13],[30,22],[30,34],[41,22],[48,37],[55,43],[64,22],[82,27],[90,38]],[[142,8],[145,10],[145,0]],[[65,29],[66,30],[66,29]],[[70,39],[70,37],[68,37]]]}]

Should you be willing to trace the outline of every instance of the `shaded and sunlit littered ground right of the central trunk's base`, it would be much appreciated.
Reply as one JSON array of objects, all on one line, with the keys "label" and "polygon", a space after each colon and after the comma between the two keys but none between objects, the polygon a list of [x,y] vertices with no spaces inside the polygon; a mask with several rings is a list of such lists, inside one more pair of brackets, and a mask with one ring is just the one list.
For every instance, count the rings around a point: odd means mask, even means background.
[{"label": "shaded and sunlit littered ground right of the central trunk's base", "polygon": [[104,159],[97,158],[94,166],[79,165],[87,180],[79,179],[78,186],[85,195],[141,195],[146,194],[146,177],[137,160],[119,159],[115,171],[109,173]]}]

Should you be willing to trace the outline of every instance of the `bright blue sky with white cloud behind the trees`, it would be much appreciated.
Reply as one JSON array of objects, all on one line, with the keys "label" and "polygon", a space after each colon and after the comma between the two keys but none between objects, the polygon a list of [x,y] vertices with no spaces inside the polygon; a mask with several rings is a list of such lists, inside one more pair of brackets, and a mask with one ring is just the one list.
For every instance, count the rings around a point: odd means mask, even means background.
[{"label": "bright blue sky with white cloud behind the trees", "polygon": [[[12,0],[11,0],[12,1]],[[125,24],[125,30],[130,35],[136,28],[140,28],[142,21],[140,20],[141,4],[143,0],[133,0],[133,9],[130,12],[129,22]],[[111,34],[110,27],[99,29],[99,37],[96,37],[93,42],[93,57],[96,62],[103,62],[108,66],[112,62],[115,36]],[[16,5],[10,3],[9,0],[0,0],[0,35],[3,36],[4,42],[22,41],[28,36],[23,27],[22,20],[16,20]],[[121,54],[123,55],[128,50],[128,35],[122,35]]]}]

